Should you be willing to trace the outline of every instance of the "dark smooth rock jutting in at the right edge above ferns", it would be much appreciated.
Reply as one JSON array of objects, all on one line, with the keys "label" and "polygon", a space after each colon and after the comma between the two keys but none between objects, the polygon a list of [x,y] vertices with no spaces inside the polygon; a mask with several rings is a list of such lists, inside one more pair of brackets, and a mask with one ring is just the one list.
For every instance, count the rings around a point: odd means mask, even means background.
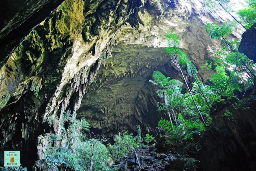
[{"label": "dark smooth rock jutting in at the right edge above ferns", "polygon": [[238,51],[256,62],[256,23],[242,35]]}]

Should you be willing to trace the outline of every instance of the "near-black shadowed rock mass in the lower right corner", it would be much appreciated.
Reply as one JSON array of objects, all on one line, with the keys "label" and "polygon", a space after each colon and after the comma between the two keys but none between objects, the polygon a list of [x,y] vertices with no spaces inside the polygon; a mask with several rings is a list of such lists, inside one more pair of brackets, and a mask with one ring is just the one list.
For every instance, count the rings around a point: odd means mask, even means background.
[{"label": "near-black shadowed rock mass in the lower right corner", "polygon": [[230,97],[213,104],[212,127],[202,135],[199,151],[205,171],[256,169],[255,103],[255,97]]}]

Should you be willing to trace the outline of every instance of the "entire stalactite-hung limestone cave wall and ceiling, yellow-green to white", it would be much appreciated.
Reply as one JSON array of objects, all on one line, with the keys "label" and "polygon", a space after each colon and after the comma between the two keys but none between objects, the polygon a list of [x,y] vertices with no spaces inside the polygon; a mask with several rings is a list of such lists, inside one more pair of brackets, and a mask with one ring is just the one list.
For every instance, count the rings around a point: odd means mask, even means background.
[{"label": "entire stalactite-hung limestone cave wall and ceiling, yellow-green to white", "polygon": [[[46,2],[51,1],[42,4]],[[220,42],[210,40],[204,24],[231,19],[217,10],[210,12],[197,0],[65,0],[2,63],[0,150],[21,150],[21,163],[31,168],[36,156],[42,159],[44,155],[45,133],[62,135],[58,121],[50,127],[49,118],[58,120],[67,109],[75,115],[81,103],[78,114],[87,116],[100,132],[134,131],[137,124],[154,131],[161,116],[156,111],[159,99],[148,80],[156,69],[179,77],[164,52],[164,34],[176,32],[199,68],[220,48]],[[239,34],[234,32],[238,38]],[[9,40],[16,46],[24,36]],[[11,49],[4,51],[9,54]],[[100,68],[102,64],[104,68]],[[100,76],[95,79],[98,70]],[[199,76],[207,82],[210,72],[199,70]],[[37,149],[35,142],[41,134]]]}]

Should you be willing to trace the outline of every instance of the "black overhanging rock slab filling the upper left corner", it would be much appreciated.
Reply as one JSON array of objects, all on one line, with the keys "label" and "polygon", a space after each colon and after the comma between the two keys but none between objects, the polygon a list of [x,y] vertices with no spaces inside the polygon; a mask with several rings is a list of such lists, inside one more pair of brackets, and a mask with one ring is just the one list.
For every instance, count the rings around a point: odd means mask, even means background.
[{"label": "black overhanging rock slab filling the upper left corner", "polygon": [[3,0],[0,6],[0,64],[24,37],[64,0]]}]

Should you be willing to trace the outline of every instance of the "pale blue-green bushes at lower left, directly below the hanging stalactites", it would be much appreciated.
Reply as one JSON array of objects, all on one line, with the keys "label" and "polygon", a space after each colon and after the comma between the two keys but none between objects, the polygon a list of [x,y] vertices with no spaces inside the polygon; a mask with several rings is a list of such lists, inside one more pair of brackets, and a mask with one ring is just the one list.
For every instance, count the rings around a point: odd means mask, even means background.
[{"label": "pale blue-green bushes at lower left, directly below the hanging stalactites", "polygon": [[[95,139],[83,141],[82,133],[88,131],[90,125],[82,118],[76,119],[76,115],[72,115],[71,111],[65,111],[60,119],[57,117],[48,118],[50,125],[58,123],[62,130],[62,135],[51,134],[49,137],[50,142],[62,142],[62,147],[48,147],[46,149],[46,156],[44,162],[48,166],[48,170],[58,170],[60,165],[64,165],[70,169],[77,171],[88,170],[90,168],[90,159],[88,156],[94,154],[95,170],[107,170],[109,165],[109,152],[107,148]],[[68,124],[68,129],[64,128],[64,123]],[[82,141],[81,141],[82,140]],[[55,143],[54,143],[55,144]],[[95,148],[92,148],[95,147]]]}]

